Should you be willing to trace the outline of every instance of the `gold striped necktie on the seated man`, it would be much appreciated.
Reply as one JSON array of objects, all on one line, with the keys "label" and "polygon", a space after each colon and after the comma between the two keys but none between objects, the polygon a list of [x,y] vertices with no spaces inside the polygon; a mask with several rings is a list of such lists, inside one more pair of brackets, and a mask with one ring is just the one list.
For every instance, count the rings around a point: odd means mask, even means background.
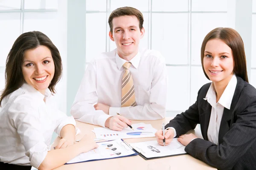
[{"label": "gold striped necktie on the seated man", "polygon": [[131,62],[125,62],[123,65],[125,73],[122,78],[121,107],[136,106],[133,79],[129,71],[130,66]]}]

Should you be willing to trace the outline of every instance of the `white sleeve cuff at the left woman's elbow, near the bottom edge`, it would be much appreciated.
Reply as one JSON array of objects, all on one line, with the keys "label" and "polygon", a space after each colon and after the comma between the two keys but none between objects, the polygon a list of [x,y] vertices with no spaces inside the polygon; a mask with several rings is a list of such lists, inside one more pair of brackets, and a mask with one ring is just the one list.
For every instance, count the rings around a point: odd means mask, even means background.
[{"label": "white sleeve cuff at the left woman's elbow, near the bottom edge", "polygon": [[25,154],[29,157],[31,166],[38,169],[40,164],[44,161],[51,145],[47,146],[44,142],[38,142],[31,147]]}]

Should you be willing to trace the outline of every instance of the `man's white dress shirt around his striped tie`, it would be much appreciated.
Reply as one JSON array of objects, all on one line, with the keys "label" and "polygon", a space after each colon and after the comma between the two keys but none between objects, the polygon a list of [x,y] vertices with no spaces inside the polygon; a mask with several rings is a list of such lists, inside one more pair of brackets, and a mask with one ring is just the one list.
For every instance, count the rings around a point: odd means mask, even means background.
[{"label": "man's white dress shirt around his striped tie", "polygon": [[[144,49],[129,61],[137,106],[121,108],[122,65],[125,62],[116,49],[104,52],[90,62],[71,108],[75,119],[105,127],[105,121],[116,113],[133,120],[165,117],[167,74],[163,56],[158,51]],[[96,103],[111,106],[109,115],[96,111],[93,107]]]}]

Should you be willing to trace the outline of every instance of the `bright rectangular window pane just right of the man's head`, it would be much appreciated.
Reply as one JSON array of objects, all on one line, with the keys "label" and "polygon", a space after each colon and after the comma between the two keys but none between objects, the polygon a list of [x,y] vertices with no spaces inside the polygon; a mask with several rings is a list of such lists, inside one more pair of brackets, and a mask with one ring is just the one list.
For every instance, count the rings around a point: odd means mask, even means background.
[{"label": "bright rectangular window pane just right of the man's head", "polygon": [[188,14],[152,14],[152,49],[168,64],[187,64]]}]

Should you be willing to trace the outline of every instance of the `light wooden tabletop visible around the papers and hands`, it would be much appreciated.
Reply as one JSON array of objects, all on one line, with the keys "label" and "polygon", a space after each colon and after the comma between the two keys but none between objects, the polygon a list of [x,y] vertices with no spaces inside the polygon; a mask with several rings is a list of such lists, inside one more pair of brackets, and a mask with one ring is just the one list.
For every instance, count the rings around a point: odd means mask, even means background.
[{"label": "light wooden tabletop visible around the papers and hands", "polygon": [[[162,123],[165,124],[169,122],[169,120],[173,119],[173,117],[166,117],[162,120],[154,120],[154,121],[134,121],[132,123],[140,123],[144,122],[146,124],[151,124],[157,130],[162,128]],[[76,121],[77,127],[81,130],[81,133],[76,136],[76,139],[81,139],[84,134],[95,137],[95,134],[91,131],[93,127],[99,127],[96,125],[90,125],[87,123],[82,123]],[[188,133],[194,133],[197,137],[202,138],[201,130],[197,126],[195,130],[190,130]],[[55,139],[55,143],[58,143],[58,138]],[[134,142],[144,142],[144,141],[151,141],[156,140],[156,137],[150,138],[137,138],[137,139],[124,139],[128,143]],[[90,162],[83,162],[77,164],[67,164],[62,165],[61,167],[56,168],[56,170],[147,170],[148,163],[150,162],[158,162],[158,163],[165,163],[170,164],[171,170],[216,170],[203,161],[193,158],[189,154],[187,155],[180,155],[180,156],[171,156],[166,158],[160,159],[151,159],[145,160],[140,156],[131,156],[131,157],[124,157],[124,158],[117,158],[117,159],[107,159],[107,160],[100,160],[100,161],[90,161]]]}]

